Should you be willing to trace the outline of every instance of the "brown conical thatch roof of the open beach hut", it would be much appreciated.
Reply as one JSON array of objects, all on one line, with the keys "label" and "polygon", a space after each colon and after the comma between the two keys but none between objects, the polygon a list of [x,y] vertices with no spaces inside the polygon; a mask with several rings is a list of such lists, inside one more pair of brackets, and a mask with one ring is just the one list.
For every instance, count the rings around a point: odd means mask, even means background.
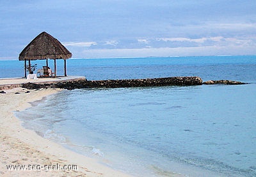
[{"label": "brown conical thatch roof of the open beach hut", "polygon": [[58,39],[42,32],[19,55],[19,60],[69,59],[72,57]]}]

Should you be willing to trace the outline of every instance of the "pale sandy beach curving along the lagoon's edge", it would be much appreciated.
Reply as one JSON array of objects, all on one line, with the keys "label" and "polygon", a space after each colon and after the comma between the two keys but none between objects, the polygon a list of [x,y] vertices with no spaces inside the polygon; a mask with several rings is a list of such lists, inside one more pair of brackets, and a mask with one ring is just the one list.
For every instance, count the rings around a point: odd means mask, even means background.
[{"label": "pale sandy beach curving along the lagoon's edge", "polygon": [[[4,92],[6,94],[0,94],[0,176],[129,176],[24,129],[22,122],[14,116],[14,111],[29,108],[29,103],[60,90],[28,92],[25,88],[18,87]],[[26,170],[7,168],[13,167],[12,165],[22,165]],[[58,169],[70,167],[71,170],[52,170],[54,165],[60,167]]]}]

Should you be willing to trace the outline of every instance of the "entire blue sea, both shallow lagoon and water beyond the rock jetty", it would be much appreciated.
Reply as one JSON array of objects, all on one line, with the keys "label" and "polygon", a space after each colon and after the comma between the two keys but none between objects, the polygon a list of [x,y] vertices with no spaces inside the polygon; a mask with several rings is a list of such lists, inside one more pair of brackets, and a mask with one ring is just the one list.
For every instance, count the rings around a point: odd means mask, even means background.
[{"label": "entire blue sea, both shallow lagoon and water beyond the rock jetty", "polygon": [[[0,61],[0,78],[23,76],[23,64]],[[63,90],[15,114],[40,136],[134,176],[256,176],[256,56],[70,59],[67,67],[88,80],[249,83]]]}]

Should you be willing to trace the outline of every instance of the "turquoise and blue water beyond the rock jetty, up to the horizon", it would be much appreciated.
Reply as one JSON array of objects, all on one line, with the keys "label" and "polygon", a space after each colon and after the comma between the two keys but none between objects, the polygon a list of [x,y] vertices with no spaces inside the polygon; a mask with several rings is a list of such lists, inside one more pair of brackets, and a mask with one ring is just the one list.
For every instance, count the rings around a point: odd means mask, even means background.
[{"label": "turquoise and blue water beyond the rock jetty, up to the horizon", "polygon": [[[34,60],[38,68],[45,60]],[[63,60],[57,60],[57,74],[63,75]],[[49,60],[53,69],[53,60]],[[256,56],[150,57],[132,59],[69,59],[67,74],[88,80],[200,76],[203,80],[255,80]],[[0,78],[24,76],[24,62],[0,60]]]}]

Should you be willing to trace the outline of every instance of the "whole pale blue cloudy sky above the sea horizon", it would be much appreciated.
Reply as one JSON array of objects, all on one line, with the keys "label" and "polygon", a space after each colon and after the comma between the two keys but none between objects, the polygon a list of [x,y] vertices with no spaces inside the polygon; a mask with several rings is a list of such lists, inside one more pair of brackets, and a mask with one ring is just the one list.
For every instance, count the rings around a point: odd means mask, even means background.
[{"label": "whole pale blue cloudy sky above the sea horizon", "polygon": [[0,0],[0,60],[45,31],[73,58],[256,55],[255,0]]}]

